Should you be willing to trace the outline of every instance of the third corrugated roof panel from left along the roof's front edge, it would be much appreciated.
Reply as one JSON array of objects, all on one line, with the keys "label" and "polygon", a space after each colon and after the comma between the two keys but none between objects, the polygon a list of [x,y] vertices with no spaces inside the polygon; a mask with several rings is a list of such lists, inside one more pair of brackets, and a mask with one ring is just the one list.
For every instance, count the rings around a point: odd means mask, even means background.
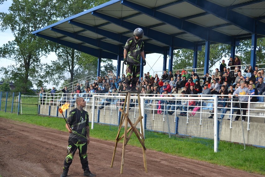
[{"label": "third corrugated roof panel from left along the roof's front edge", "polygon": [[106,20],[103,20],[102,18],[91,15],[90,13],[83,15],[81,17],[74,18],[73,21],[84,23],[90,26],[97,26],[97,25],[101,25],[103,23],[108,22]]}]

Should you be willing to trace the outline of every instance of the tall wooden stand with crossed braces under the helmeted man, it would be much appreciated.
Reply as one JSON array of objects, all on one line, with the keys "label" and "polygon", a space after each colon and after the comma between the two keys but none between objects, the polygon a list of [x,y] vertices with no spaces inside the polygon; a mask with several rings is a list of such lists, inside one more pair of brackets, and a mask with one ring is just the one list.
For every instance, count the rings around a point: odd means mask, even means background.
[{"label": "tall wooden stand with crossed braces under the helmeted man", "polygon": [[[129,107],[130,107],[131,93],[132,94],[136,94],[137,93],[137,96],[138,96],[138,104],[139,104],[139,117],[138,117],[137,121],[134,124],[131,122],[130,118],[128,117],[129,116]],[[125,103],[127,105],[126,113],[124,112],[124,110],[125,110]],[[142,118],[143,117],[142,117],[141,104],[140,103],[141,102],[140,102],[139,92],[126,91],[126,97],[125,97],[125,101],[124,101],[124,105],[123,105],[123,110],[121,110],[122,115],[121,115],[121,119],[120,119],[118,134],[117,134],[117,137],[116,137],[116,144],[115,144],[115,148],[114,148],[114,152],[113,152],[113,157],[112,157],[112,161],[111,161],[111,165],[110,165],[110,167],[113,166],[113,161],[114,161],[114,157],[115,157],[115,153],[116,153],[117,144],[123,138],[123,151],[122,151],[122,161],[121,161],[121,172],[120,172],[120,174],[123,173],[125,147],[126,147],[128,141],[130,140],[130,137],[132,136],[133,132],[135,132],[138,140],[140,141],[140,143],[142,145],[144,168],[145,168],[145,173],[147,173],[146,155],[145,155],[146,147],[144,145],[143,124],[142,124]],[[121,131],[121,128],[122,128],[122,125],[123,125],[124,120],[125,120],[125,123],[124,123],[124,134],[119,137],[120,131]],[[140,122],[140,125],[141,125],[142,133],[140,133],[138,131],[138,129],[136,128],[136,126],[137,126],[137,124],[139,122]],[[131,126],[129,129],[128,129],[128,123]],[[128,135],[129,132],[130,132],[130,134]]]}]

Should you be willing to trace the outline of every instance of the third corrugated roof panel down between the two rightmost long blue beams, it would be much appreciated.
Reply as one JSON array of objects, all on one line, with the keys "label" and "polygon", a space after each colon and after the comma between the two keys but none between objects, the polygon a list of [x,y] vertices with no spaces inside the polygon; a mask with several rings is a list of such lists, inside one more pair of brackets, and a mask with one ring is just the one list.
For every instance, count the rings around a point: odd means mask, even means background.
[{"label": "third corrugated roof panel down between the two rightmost long blue beams", "polygon": [[204,27],[216,26],[227,23],[225,20],[222,20],[221,18],[218,18],[212,14],[191,18],[187,21]]}]

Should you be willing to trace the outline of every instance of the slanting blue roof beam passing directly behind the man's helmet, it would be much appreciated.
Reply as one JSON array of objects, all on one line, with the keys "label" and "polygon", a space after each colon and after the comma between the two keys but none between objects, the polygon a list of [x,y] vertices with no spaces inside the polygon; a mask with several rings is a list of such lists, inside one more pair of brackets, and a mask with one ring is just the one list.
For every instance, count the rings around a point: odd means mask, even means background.
[{"label": "slanting blue roof beam passing directly behind the man's helmet", "polygon": [[[93,11],[92,15],[95,15],[96,17],[102,18],[106,21],[109,21],[113,24],[116,24],[118,26],[121,26],[123,28],[126,28],[130,31],[134,31],[136,28],[142,28],[144,31],[144,35],[155,40],[155,41],[159,41],[161,43],[164,43],[165,45],[169,45],[170,44],[170,40],[171,40],[171,36],[167,35],[165,33],[153,30],[153,29],[149,29],[146,28],[144,26],[141,25],[137,25],[131,22],[127,22],[115,17],[110,17],[108,15]],[[185,49],[193,49],[194,43],[184,40],[184,39],[180,39],[177,37],[174,37],[174,47],[179,47],[179,48],[185,48]],[[157,52],[154,52],[157,53]]]}]

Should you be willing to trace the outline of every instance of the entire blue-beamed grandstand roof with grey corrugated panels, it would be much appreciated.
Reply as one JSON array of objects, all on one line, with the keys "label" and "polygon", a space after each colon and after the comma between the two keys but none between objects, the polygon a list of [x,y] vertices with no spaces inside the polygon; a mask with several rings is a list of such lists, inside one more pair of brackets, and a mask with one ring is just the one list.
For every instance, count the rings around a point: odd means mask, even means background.
[{"label": "entire blue-beamed grandstand roof with grey corrugated panels", "polygon": [[123,58],[140,27],[145,53],[200,50],[206,41],[232,46],[265,36],[264,0],[112,0],[33,34],[98,58]]}]

